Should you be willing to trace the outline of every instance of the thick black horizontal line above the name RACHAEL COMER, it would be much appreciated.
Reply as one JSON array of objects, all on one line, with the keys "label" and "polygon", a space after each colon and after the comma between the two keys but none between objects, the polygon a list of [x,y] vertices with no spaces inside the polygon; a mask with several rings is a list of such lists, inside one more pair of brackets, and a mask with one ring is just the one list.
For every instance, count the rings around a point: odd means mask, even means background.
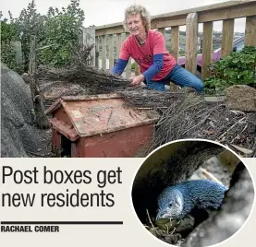
[{"label": "thick black horizontal line above the name RACHAEL COMER", "polygon": [[123,221],[1,221],[1,225],[123,225]]}]

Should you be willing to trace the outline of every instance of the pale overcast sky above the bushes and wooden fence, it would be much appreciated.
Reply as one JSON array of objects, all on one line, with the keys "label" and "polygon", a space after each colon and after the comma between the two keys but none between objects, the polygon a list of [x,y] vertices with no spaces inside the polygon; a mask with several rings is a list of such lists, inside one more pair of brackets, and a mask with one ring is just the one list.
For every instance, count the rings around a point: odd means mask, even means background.
[{"label": "pale overcast sky above the bushes and wooden fence", "polygon": [[[8,10],[14,18],[17,18],[20,11],[26,8],[31,0],[6,0],[1,5],[4,17],[8,17]],[[159,15],[177,10],[189,9],[197,6],[207,6],[226,2],[225,0],[80,0],[80,7],[84,10],[84,27],[91,25],[100,26],[122,21],[125,8],[133,4],[145,6],[150,14]],[[36,8],[41,14],[46,14],[50,6],[61,8],[67,7],[70,0],[35,0]],[[221,30],[221,22],[213,24],[214,30]],[[237,19],[235,31],[244,31],[245,18]],[[201,25],[200,25],[201,30]]]}]

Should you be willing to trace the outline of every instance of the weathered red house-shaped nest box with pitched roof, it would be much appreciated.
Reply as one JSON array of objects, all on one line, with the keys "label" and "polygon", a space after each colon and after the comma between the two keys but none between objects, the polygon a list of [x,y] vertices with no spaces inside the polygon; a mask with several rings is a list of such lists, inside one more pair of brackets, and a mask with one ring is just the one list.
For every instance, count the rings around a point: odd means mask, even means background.
[{"label": "weathered red house-shaped nest box with pitched roof", "polygon": [[58,157],[134,157],[152,140],[158,114],[128,107],[117,94],[63,97],[51,113]]}]

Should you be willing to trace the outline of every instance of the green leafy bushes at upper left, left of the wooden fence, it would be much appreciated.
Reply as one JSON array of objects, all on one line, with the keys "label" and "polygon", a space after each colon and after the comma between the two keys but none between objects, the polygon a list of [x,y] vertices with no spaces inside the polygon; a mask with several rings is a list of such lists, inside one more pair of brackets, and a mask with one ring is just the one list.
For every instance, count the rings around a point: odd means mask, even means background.
[{"label": "green leafy bushes at upper left, left of the wooden fence", "polygon": [[[41,15],[35,1],[32,0],[24,8],[18,18],[1,20],[2,61],[10,68],[14,68],[13,41],[21,41],[24,71],[28,71],[30,55],[30,37],[36,36],[38,62],[43,65],[66,66],[70,65],[72,53],[79,50],[79,37],[82,32],[84,12],[79,7],[79,0],[71,0],[67,7],[50,7],[46,15]],[[4,35],[3,35],[4,34]],[[9,53],[9,54],[8,54]]]}]

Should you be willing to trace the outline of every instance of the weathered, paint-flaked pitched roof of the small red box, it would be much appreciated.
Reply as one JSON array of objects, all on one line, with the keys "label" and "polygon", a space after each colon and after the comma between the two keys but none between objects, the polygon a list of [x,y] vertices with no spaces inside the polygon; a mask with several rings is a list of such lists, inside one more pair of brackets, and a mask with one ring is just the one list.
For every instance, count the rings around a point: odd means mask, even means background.
[{"label": "weathered, paint-flaked pitched roof of the small red box", "polygon": [[54,113],[61,106],[80,137],[153,124],[159,119],[155,111],[128,106],[118,94],[63,97],[55,101],[46,113]]}]

